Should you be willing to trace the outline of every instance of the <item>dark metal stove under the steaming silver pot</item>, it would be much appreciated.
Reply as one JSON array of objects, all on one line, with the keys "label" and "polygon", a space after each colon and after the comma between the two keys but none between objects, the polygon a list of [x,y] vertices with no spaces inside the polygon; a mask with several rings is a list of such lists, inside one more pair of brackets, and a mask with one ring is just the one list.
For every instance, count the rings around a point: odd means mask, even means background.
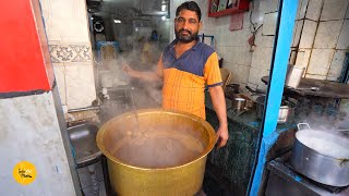
[{"label": "dark metal stove under the steaming silver pot", "polygon": [[349,196],[349,186],[335,187],[312,181],[296,172],[289,159],[290,152],[267,164],[266,196]]}]

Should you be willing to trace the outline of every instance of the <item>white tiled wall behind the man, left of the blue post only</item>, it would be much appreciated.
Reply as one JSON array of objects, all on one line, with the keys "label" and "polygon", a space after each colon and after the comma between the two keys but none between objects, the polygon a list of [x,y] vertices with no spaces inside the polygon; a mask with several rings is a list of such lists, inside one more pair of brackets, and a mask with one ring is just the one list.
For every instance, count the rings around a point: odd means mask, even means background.
[{"label": "white tiled wall behind the man, left of the blue post only", "polygon": [[[176,8],[183,1],[177,0],[171,4],[171,21],[176,15]],[[222,17],[208,17],[208,1],[197,0],[202,10],[203,29],[205,35],[214,35],[216,44],[214,48],[224,58],[224,66],[232,72],[232,82],[252,87],[265,88],[261,77],[268,75],[270,68],[276,15],[278,9],[277,0],[254,0],[252,22],[257,23],[255,45],[251,48],[248,39],[252,36],[249,12],[243,12],[243,26],[239,30],[229,30],[231,15]],[[252,8],[252,7],[251,7]],[[171,38],[173,39],[173,22],[171,24]],[[171,39],[171,40],[172,40]]]}]

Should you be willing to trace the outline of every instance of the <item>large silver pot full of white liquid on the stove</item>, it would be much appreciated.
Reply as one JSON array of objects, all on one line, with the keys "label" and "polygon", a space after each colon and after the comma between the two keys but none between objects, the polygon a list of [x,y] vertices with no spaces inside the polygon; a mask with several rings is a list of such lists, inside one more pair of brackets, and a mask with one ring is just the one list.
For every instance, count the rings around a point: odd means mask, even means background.
[{"label": "large silver pot full of white liquid on the stove", "polygon": [[[301,130],[306,125],[308,130]],[[330,185],[349,185],[349,138],[324,131],[311,130],[299,123],[291,164],[309,179]]]}]

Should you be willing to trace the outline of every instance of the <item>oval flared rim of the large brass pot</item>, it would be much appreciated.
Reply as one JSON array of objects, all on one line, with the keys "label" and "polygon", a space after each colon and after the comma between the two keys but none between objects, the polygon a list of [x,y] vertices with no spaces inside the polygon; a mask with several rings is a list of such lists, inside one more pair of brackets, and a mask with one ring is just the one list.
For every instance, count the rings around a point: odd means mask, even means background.
[{"label": "oval flared rim of the large brass pot", "polygon": [[[134,115],[134,112],[136,112],[137,114],[145,114],[145,113],[176,113],[176,114],[180,114],[180,115],[185,115],[189,117],[190,119],[192,119],[193,121],[200,121],[200,123],[203,124],[203,126],[208,131],[208,135],[209,135],[209,140],[207,144],[207,147],[204,149],[204,151],[197,156],[196,159],[191,160],[188,163],[184,164],[180,164],[180,166],[176,166],[176,167],[169,167],[169,168],[142,168],[142,167],[136,167],[136,166],[131,166],[118,158],[116,158],[115,156],[112,156],[109,150],[106,149],[104,143],[103,143],[103,138],[104,138],[104,134],[106,132],[106,127],[108,127],[109,124],[111,124],[113,121],[119,120],[119,119],[124,119],[130,115]],[[154,108],[154,109],[141,109],[141,110],[136,110],[136,111],[130,111],[127,113],[122,113],[120,115],[117,115],[115,118],[112,118],[111,120],[109,120],[108,122],[106,122],[104,125],[101,125],[101,127],[99,128],[98,133],[97,133],[97,147],[99,148],[99,150],[111,161],[119,163],[123,167],[127,168],[131,168],[131,169],[136,169],[136,170],[143,170],[143,171],[168,171],[168,170],[177,170],[190,164],[193,164],[197,161],[200,161],[201,159],[205,158],[207,156],[207,154],[209,154],[209,151],[214,148],[215,144],[218,140],[218,136],[216,135],[215,130],[213,128],[213,126],[205,120],[192,114],[192,113],[188,113],[188,112],[183,112],[183,111],[174,111],[174,110],[168,110],[168,109],[161,109],[161,108]]]}]

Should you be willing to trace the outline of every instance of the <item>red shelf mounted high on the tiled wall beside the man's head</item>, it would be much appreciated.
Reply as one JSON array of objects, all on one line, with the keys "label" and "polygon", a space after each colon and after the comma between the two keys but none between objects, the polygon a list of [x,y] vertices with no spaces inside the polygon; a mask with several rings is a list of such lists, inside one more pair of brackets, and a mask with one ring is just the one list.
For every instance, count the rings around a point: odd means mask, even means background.
[{"label": "red shelf mounted high on the tiled wall beside the man's head", "polygon": [[250,0],[238,0],[236,7],[210,13],[212,1],[213,0],[209,0],[209,3],[208,3],[208,17],[220,17],[220,16],[230,15],[239,12],[244,12],[244,11],[248,11],[250,7]]}]

